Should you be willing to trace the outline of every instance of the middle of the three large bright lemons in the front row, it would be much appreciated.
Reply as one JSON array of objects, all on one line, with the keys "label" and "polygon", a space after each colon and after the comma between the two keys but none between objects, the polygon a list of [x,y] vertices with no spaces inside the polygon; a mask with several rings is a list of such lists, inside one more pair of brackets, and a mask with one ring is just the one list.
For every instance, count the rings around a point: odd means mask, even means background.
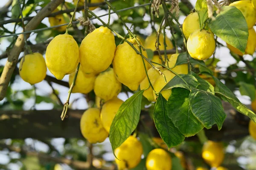
[{"label": "middle of the three large bright lemons in the front row", "polygon": [[101,26],[88,34],[81,42],[80,63],[84,73],[105,71],[114,58],[115,37],[110,29]]}]

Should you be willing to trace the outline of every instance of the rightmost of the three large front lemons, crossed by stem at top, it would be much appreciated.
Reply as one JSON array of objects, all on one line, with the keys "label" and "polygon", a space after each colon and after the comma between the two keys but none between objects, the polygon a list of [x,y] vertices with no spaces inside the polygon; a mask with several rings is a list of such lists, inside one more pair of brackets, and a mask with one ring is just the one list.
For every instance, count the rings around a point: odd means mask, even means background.
[{"label": "rightmost of the three large front lemons, crossed by stem at top", "polygon": [[[134,47],[140,51],[139,46],[134,38],[127,39]],[[137,38],[137,40],[139,40]],[[140,40],[139,40],[140,41]],[[145,57],[146,51],[142,51]],[[148,68],[148,62],[144,59],[145,66]],[[140,54],[127,43],[124,42],[116,48],[116,54],[113,59],[113,68],[116,73],[116,77],[122,84],[126,85],[132,91],[136,91],[146,76],[143,60]]]}]

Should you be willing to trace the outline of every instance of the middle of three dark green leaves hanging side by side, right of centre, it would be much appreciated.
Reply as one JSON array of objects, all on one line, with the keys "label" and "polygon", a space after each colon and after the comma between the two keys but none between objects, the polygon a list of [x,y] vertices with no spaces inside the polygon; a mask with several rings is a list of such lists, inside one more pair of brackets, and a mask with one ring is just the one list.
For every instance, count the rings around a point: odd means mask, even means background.
[{"label": "middle of three dark green leaves hanging side by side, right of centre", "polygon": [[189,93],[184,88],[173,88],[167,101],[168,117],[185,137],[194,136],[204,128],[190,109]]}]

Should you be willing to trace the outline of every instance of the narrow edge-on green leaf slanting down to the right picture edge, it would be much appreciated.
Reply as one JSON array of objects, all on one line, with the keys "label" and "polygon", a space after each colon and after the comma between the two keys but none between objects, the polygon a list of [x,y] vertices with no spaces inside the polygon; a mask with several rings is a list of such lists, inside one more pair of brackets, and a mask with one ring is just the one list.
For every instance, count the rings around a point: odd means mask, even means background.
[{"label": "narrow edge-on green leaf slanting down to the right picture edge", "polygon": [[248,109],[244,104],[242,104],[239,101],[236,101],[235,99],[231,98],[230,96],[227,96],[226,94],[223,94],[221,92],[215,92],[217,94],[221,95],[221,99],[223,99],[225,102],[229,102],[237,111],[244,114],[245,116],[250,117],[254,122],[256,122],[256,114]]}]

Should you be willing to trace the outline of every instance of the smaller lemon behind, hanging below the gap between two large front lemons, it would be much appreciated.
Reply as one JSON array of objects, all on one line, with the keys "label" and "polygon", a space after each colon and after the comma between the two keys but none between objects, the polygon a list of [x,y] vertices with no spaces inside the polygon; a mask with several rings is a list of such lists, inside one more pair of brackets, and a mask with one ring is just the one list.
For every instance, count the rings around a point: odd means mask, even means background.
[{"label": "smaller lemon behind, hanging below the gap between two large front lemons", "polygon": [[105,101],[116,97],[121,91],[121,83],[116,79],[113,68],[102,72],[97,76],[94,84],[94,93]]}]

